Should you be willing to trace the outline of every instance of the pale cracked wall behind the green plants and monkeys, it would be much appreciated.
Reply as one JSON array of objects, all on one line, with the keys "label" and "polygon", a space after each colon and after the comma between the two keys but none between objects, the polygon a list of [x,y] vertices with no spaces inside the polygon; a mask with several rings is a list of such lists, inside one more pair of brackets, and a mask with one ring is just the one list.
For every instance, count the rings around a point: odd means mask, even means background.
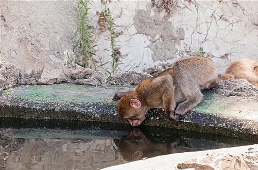
[{"label": "pale cracked wall behind the green plants and monkeys", "polygon": [[[1,1],[1,60],[28,67],[26,51],[16,52],[26,37],[27,51],[34,58],[55,55],[67,60],[66,51],[74,46],[77,28],[73,7],[76,1]],[[97,11],[109,7],[117,32],[116,46],[124,56],[121,72],[142,72],[154,64],[203,51],[223,73],[238,58],[257,59],[257,1],[174,1],[170,15],[148,1],[90,1],[90,20],[94,27],[96,53],[102,63],[111,61],[108,30],[99,25]],[[32,48],[33,47],[33,48]],[[24,49],[24,48],[23,48]],[[26,48],[25,48],[26,49]],[[18,55],[19,54],[19,55]],[[75,53],[75,55],[78,55]],[[25,58],[25,59],[23,59]],[[106,65],[106,67],[109,67]],[[34,70],[34,72],[37,70]],[[102,72],[105,72],[101,69]]]}]

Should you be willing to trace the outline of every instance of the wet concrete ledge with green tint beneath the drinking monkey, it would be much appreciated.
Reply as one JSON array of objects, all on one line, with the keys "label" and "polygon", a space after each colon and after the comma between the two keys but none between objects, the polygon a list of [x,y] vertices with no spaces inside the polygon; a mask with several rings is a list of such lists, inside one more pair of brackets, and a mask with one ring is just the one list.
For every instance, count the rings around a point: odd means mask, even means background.
[{"label": "wet concrete ledge with green tint beneath the drinking monkey", "polygon": [[[1,117],[69,119],[127,123],[119,118],[117,91],[130,86],[27,85],[1,91]],[[258,141],[258,99],[221,97],[203,91],[202,102],[177,123],[170,123],[161,109],[151,109],[143,125],[169,127]]]}]

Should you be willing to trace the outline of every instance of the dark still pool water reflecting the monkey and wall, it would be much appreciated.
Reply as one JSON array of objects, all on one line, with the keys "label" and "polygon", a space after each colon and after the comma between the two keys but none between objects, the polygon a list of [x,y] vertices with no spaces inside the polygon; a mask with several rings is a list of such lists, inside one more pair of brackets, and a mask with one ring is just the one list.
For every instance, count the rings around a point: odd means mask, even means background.
[{"label": "dark still pool water reflecting the monkey and wall", "polygon": [[1,170],[95,170],[159,155],[251,144],[168,128],[1,118]]}]

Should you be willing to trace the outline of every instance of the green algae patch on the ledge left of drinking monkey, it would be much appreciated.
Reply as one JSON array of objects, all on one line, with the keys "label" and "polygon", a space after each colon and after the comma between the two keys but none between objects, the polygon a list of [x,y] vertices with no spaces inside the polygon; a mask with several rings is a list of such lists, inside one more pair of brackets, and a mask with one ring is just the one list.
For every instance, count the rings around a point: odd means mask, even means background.
[{"label": "green algae patch on the ledge left of drinking monkey", "polygon": [[19,86],[4,90],[2,95],[35,103],[103,102],[102,97],[106,96],[105,92],[93,88],[75,84]]}]

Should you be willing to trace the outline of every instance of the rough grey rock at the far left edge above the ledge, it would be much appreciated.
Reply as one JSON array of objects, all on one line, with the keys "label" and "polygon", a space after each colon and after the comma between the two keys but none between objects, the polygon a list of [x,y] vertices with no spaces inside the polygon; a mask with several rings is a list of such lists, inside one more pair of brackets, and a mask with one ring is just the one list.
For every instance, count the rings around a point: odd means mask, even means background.
[{"label": "rough grey rock at the far left edge above the ledge", "polygon": [[1,77],[0,77],[0,89],[8,89],[18,84],[20,69],[12,63],[1,62]]}]

